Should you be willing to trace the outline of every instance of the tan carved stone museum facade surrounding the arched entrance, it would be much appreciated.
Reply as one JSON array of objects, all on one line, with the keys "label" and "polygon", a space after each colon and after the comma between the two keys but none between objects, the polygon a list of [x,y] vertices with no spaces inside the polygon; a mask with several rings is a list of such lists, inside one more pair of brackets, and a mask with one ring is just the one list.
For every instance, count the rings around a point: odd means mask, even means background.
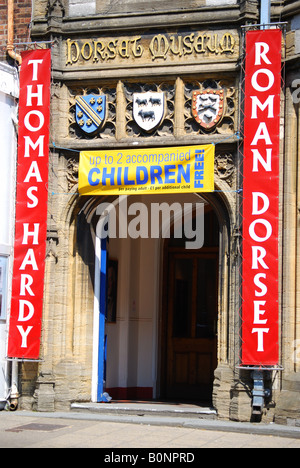
[{"label": "tan carved stone museum facade surrounding the arched entrance", "polygon": [[[32,40],[53,41],[51,156],[41,362],[20,365],[23,408],[52,411],[75,401],[97,401],[97,207],[117,201],[78,194],[79,152],[214,143],[215,192],[127,199],[130,211],[137,201],[148,208],[155,202],[183,206],[200,197],[206,237],[197,252],[185,250],[172,235],[164,239],[162,231],[155,239],[110,239],[118,281],[115,317],[105,332],[106,390],[114,399],[205,400],[220,418],[251,419],[253,379],[239,368],[241,27],[258,24],[259,15],[259,2],[247,0],[34,2]],[[263,420],[288,423],[300,419],[300,115],[295,99],[300,2],[272,2],[271,17],[287,22],[280,197],[283,371],[264,372],[270,392]],[[222,118],[209,128],[192,114],[193,92],[199,89],[223,93]],[[147,92],[165,95],[163,119],[150,131],[133,116],[134,95]],[[76,97],[88,95],[106,96],[106,119],[98,133],[88,134],[78,123]],[[195,305],[187,306],[186,323],[180,315],[180,304],[188,297],[198,304],[199,294],[209,310],[205,326]],[[190,333],[191,323],[198,328]]]}]

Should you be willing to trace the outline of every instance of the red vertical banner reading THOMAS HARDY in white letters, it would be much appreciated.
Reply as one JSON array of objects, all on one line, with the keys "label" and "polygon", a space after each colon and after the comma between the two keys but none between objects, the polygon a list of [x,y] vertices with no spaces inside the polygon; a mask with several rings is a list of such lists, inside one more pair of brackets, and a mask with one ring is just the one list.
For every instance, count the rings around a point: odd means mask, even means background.
[{"label": "red vertical banner reading THOMAS HARDY in white letters", "polygon": [[51,51],[22,54],[8,357],[38,359],[47,239]]}]

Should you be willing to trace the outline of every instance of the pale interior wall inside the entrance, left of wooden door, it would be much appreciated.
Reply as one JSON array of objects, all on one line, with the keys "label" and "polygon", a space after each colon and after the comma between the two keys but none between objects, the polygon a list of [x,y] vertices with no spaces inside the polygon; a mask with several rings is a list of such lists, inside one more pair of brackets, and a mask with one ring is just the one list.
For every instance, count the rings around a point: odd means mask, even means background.
[{"label": "pale interior wall inside the entrance, left of wooden door", "polygon": [[[129,204],[141,201],[130,197]],[[157,316],[157,239],[110,239],[118,260],[117,322],[107,324],[107,388],[155,388],[154,327]]]}]

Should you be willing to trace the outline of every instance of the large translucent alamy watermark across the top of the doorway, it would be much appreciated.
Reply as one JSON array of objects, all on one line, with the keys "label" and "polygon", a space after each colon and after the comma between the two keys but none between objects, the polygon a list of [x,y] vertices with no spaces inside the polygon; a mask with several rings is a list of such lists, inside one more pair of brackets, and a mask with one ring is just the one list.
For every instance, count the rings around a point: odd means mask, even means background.
[{"label": "large translucent alamy watermark across the top of the doorway", "polygon": [[128,204],[127,196],[101,203],[97,237],[100,239],[185,239],[186,249],[204,245],[204,203]]}]

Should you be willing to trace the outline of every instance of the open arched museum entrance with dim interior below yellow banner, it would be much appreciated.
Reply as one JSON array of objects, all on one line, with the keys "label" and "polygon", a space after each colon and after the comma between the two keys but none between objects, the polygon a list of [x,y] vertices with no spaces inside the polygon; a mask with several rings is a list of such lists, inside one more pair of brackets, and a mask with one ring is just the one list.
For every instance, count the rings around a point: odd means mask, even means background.
[{"label": "open arched museum entrance with dim interior below yellow banner", "polygon": [[[114,400],[211,403],[219,297],[220,228],[215,211],[195,194],[128,197],[122,203],[132,215],[142,207],[137,202],[150,213],[152,203],[177,202],[180,208],[199,201],[204,206],[201,248],[186,248],[187,239],[177,238],[172,225],[166,238],[161,232],[157,238],[110,238],[107,244],[107,264],[112,262],[117,271],[115,313],[105,324],[105,387]],[[133,221],[138,225],[137,218]],[[132,228],[130,215],[126,224]],[[99,375],[95,373],[95,381]]]}]

